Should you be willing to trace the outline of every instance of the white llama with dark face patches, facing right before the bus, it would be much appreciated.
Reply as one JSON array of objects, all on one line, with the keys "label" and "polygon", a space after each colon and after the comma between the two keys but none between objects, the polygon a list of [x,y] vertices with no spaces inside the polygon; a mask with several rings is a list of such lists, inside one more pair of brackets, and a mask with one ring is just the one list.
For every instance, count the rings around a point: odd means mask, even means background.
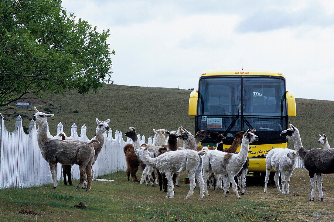
[{"label": "white llama with dark face patches, facing right before the bus", "polygon": [[240,172],[242,166],[247,160],[249,143],[258,140],[258,136],[254,134],[255,129],[248,129],[242,137],[241,148],[239,153],[225,153],[218,150],[209,150],[203,156],[203,174],[204,174],[204,189],[207,191],[207,179],[211,173],[215,175],[228,175],[226,183],[224,184],[224,197],[226,197],[227,186],[232,182],[233,191],[237,198],[241,198],[238,194],[237,185],[234,181],[234,176]]}]

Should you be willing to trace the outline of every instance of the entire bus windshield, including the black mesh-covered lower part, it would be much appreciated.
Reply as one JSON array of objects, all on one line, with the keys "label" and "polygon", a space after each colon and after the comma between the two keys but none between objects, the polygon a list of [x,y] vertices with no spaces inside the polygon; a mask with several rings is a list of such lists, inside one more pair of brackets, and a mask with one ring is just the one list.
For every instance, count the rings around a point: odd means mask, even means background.
[{"label": "entire bus windshield, including the black mesh-covered lower part", "polygon": [[198,91],[196,132],[221,132],[230,144],[236,132],[255,128],[259,144],[286,142],[280,137],[288,121],[284,79],[201,78]]}]

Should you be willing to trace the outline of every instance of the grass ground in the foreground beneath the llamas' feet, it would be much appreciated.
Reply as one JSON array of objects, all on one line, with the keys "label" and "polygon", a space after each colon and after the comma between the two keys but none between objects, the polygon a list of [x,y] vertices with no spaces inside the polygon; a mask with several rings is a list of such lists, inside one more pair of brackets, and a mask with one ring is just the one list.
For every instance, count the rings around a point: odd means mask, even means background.
[{"label": "grass ground in the foreground beneath the llamas' feet", "polygon": [[[137,173],[140,176],[141,173]],[[245,195],[236,199],[230,189],[228,197],[221,190],[209,190],[203,200],[199,191],[188,199],[184,197],[189,186],[180,177],[173,199],[158,186],[151,187],[126,181],[121,171],[103,176],[114,182],[93,181],[90,192],[74,191],[73,186],[61,182],[56,189],[52,184],[25,189],[8,189],[0,192],[0,219],[2,221],[333,221],[334,175],[324,176],[324,202],[311,202],[310,181],[306,170],[295,169],[290,181],[290,195],[277,192],[268,184],[263,193],[263,178],[248,176]],[[74,181],[74,185],[78,181]],[[318,191],[316,192],[318,199]],[[86,209],[76,209],[79,202]],[[32,210],[39,215],[21,214]]]}]

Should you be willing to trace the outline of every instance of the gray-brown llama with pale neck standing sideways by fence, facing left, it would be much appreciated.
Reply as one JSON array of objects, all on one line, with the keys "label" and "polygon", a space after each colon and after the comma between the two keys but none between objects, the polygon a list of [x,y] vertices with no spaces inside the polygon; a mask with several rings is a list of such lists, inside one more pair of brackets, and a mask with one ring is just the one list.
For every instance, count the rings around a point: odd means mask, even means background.
[{"label": "gray-brown llama with pale neck standing sideways by fence, facing left", "polygon": [[75,191],[78,191],[87,175],[89,191],[92,186],[92,163],[94,160],[95,150],[94,143],[98,140],[85,142],[82,140],[60,140],[47,136],[48,123],[46,118],[54,116],[54,114],[45,114],[39,112],[35,107],[36,113],[33,120],[38,125],[37,142],[43,158],[49,163],[50,171],[53,179],[53,188],[58,186],[57,183],[57,163],[71,165],[78,164],[80,169],[80,181]]}]

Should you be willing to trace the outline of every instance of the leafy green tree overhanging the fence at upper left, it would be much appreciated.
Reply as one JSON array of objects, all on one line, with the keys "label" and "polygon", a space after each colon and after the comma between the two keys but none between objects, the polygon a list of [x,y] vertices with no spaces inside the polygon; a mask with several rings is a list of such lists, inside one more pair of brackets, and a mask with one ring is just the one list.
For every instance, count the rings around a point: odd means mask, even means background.
[{"label": "leafy green tree overhanging the fence at upper left", "polygon": [[99,33],[60,4],[0,0],[0,106],[25,94],[85,94],[113,82],[109,29]]}]

